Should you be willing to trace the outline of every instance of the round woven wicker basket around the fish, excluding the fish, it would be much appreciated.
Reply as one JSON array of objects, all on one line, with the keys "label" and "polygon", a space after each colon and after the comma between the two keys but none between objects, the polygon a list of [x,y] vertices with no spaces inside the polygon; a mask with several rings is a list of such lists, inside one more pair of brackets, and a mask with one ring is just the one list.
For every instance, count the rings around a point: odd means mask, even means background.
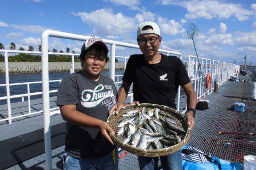
[{"label": "round woven wicker basket around the fish, excluding the fish", "polygon": [[158,156],[170,155],[176,151],[179,151],[189,141],[190,130],[189,130],[187,123],[184,121],[184,116],[180,112],[176,111],[175,109],[166,107],[164,105],[148,104],[148,103],[142,103],[142,104],[139,104],[139,106],[134,105],[134,104],[127,105],[126,107],[121,109],[121,111],[119,112],[119,114],[117,116],[115,116],[114,113],[110,114],[107,122],[114,131],[117,131],[117,129],[118,129],[117,122],[126,111],[129,111],[132,109],[139,109],[142,107],[146,107],[147,109],[159,108],[161,110],[161,112],[170,114],[171,116],[173,116],[174,118],[179,120],[179,125],[182,126],[183,129],[186,131],[186,133],[184,135],[180,135],[181,142],[177,143],[176,145],[166,147],[163,149],[159,149],[159,150],[142,150],[141,148],[137,148],[137,147],[133,147],[128,144],[124,144],[122,142],[124,137],[117,138],[114,135],[110,134],[110,137],[112,138],[112,141],[114,142],[114,144],[116,146],[118,146],[119,148],[122,148],[122,150],[128,151],[132,154],[136,154],[139,156],[158,157]]}]

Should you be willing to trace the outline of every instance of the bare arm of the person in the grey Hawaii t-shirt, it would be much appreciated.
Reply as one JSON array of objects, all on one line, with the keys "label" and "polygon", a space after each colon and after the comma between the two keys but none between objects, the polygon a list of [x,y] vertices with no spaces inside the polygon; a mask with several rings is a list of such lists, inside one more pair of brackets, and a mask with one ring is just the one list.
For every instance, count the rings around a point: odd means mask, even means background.
[{"label": "bare arm of the person in the grey Hawaii t-shirt", "polygon": [[108,139],[108,141],[112,143],[112,145],[114,145],[112,139],[108,134],[108,133],[114,134],[114,130],[110,128],[110,126],[106,122],[77,111],[75,104],[62,105],[60,107],[60,112],[63,119],[67,122],[71,122],[72,124],[75,124],[78,126],[85,126],[85,127],[100,129],[103,137]]}]

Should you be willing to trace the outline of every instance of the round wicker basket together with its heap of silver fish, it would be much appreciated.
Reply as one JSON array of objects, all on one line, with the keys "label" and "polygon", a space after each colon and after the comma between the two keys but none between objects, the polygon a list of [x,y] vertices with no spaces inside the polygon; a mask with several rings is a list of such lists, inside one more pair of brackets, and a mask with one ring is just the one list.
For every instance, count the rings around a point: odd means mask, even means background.
[{"label": "round wicker basket together with its heap of silver fish", "polygon": [[181,149],[189,140],[190,130],[184,116],[175,109],[142,103],[127,105],[108,124],[115,145],[139,156],[164,156]]}]

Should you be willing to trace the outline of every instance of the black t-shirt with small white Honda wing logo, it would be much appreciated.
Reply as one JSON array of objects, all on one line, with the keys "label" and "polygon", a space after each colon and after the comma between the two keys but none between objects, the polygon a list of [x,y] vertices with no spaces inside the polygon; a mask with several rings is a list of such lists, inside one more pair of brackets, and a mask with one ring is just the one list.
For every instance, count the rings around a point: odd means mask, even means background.
[{"label": "black t-shirt with small white Honda wing logo", "polygon": [[183,62],[161,54],[159,63],[150,64],[143,54],[132,55],[123,80],[133,83],[134,101],[166,105],[176,109],[177,88],[190,82]]}]

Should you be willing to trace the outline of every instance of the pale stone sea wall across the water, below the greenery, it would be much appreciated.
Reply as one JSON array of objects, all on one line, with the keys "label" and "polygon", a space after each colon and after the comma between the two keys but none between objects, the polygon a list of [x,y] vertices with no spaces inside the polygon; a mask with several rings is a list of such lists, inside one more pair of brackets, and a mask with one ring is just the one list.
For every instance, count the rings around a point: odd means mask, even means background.
[{"label": "pale stone sea wall across the water, below the greenery", "polygon": [[[9,62],[9,73],[40,73],[42,71],[41,62]],[[115,69],[124,69],[123,62],[116,62]],[[49,62],[49,72],[70,71],[71,62]],[[75,70],[81,69],[81,62],[75,62]],[[106,63],[105,70],[109,70],[109,63]],[[0,62],[0,74],[5,74],[5,62]]]}]

